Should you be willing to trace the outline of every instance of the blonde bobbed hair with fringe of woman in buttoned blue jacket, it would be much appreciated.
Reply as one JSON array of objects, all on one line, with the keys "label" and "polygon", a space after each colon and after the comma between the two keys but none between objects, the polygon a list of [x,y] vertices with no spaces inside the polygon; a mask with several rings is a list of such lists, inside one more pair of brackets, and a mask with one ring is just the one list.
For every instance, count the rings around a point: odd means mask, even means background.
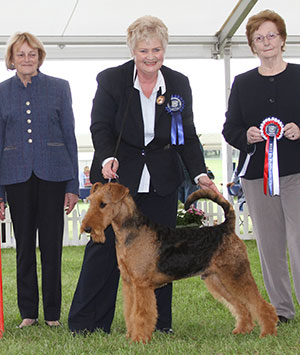
[{"label": "blonde bobbed hair with fringe of woman in buttoned blue jacket", "polygon": [[39,54],[38,67],[40,67],[43,64],[46,57],[46,51],[42,42],[29,32],[17,32],[14,35],[12,35],[7,42],[6,51],[5,51],[5,64],[7,69],[10,70],[15,69],[14,65],[12,64],[13,49],[15,47],[21,46],[25,42],[27,42],[27,44],[31,48],[38,50],[38,54]]}]

